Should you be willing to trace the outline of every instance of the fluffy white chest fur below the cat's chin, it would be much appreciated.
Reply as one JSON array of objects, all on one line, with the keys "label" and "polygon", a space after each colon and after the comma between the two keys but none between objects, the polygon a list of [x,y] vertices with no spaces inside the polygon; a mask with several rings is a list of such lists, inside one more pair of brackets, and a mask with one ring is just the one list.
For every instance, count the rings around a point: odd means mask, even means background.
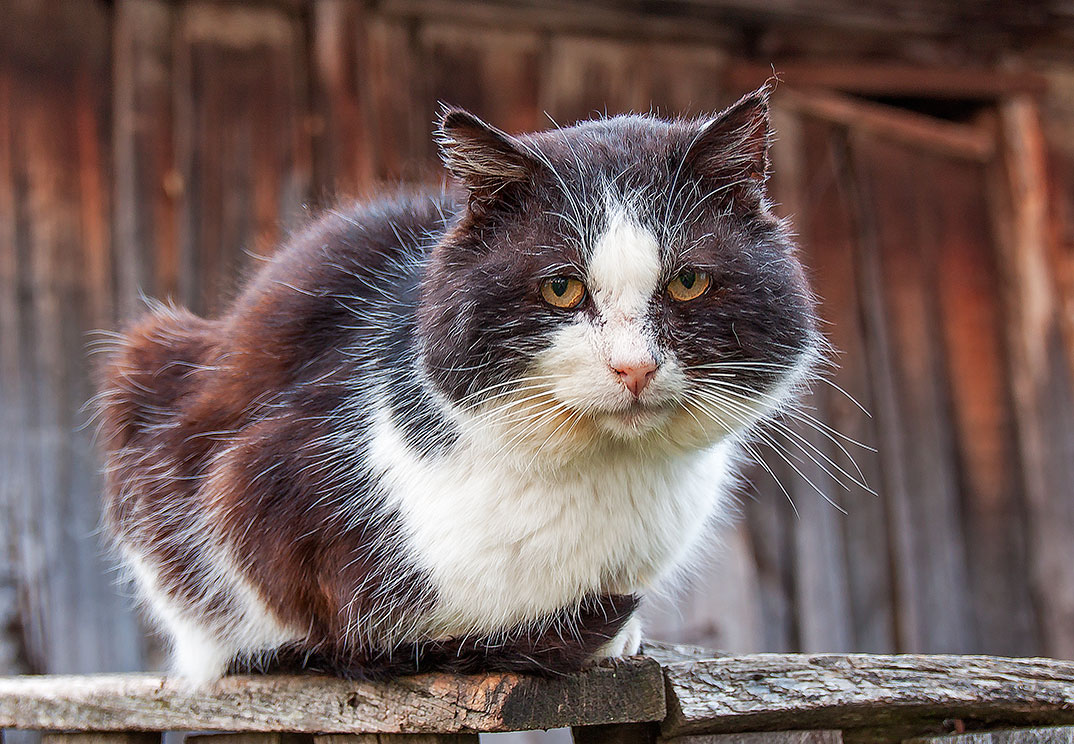
[{"label": "fluffy white chest fur below the cat's chin", "polygon": [[729,444],[677,459],[605,452],[553,472],[463,447],[423,459],[387,415],[371,452],[436,584],[429,630],[494,631],[680,567],[724,504]]}]

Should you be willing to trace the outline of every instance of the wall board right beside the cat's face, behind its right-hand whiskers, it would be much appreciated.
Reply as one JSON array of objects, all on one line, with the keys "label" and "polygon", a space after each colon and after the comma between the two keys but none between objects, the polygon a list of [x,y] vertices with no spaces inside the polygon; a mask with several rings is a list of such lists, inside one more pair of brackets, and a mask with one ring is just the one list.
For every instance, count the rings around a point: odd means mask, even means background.
[{"label": "wall board right beside the cat's face, behind its right-hand whiskers", "polygon": [[[874,443],[876,432],[866,413],[873,408],[873,393],[856,292],[859,257],[845,135],[818,119],[803,117],[799,123],[779,106],[779,98],[773,121],[780,132],[773,193],[794,217],[821,298],[822,329],[834,347],[826,373],[834,384],[814,385],[810,402],[816,410],[807,413],[838,434],[826,436],[808,424],[799,431],[815,448],[812,455],[843,484],[829,495],[846,511],[841,514],[815,492],[798,498],[801,517],[790,527],[798,544],[796,647],[890,652],[896,650],[894,589],[880,462],[875,452],[854,443]],[[874,495],[866,485],[881,492]]]}]

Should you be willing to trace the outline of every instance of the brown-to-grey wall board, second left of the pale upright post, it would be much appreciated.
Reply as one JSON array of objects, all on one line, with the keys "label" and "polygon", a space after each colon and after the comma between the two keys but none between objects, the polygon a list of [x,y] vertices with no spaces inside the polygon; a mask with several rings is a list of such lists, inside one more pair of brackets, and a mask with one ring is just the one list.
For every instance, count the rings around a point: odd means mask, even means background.
[{"label": "brown-to-grey wall board, second left of the pale upright post", "polygon": [[[959,653],[976,648],[968,588],[966,536],[959,504],[959,473],[948,418],[949,383],[935,322],[937,204],[943,175],[935,159],[872,137],[852,140],[855,175],[862,193],[863,258],[874,261],[865,292],[876,294],[884,324],[891,385],[877,398],[877,419],[897,428],[882,441],[895,456],[904,488],[891,494],[896,538],[897,604],[909,601],[915,616],[903,618],[900,648]],[[923,177],[923,174],[928,174]],[[874,256],[871,253],[875,251]],[[879,339],[877,339],[879,340]],[[874,364],[873,369],[879,367]]]}]

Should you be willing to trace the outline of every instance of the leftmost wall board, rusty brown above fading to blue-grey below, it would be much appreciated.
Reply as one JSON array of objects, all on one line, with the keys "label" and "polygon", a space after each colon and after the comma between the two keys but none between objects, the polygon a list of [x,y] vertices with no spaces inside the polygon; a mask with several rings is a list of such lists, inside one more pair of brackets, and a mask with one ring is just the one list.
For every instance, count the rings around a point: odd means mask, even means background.
[{"label": "leftmost wall board, rusty brown above fading to blue-grey below", "polygon": [[4,35],[56,40],[0,44],[12,225],[0,252],[16,297],[0,346],[19,366],[4,382],[5,399],[18,400],[6,414],[18,442],[2,497],[25,661],[33,671],[129,670],[141,663],[139,632],[101,555],[97,461],[79,429],[92,394],[87,334],[113,323],[110,17],[74,1],[21,10]]}]

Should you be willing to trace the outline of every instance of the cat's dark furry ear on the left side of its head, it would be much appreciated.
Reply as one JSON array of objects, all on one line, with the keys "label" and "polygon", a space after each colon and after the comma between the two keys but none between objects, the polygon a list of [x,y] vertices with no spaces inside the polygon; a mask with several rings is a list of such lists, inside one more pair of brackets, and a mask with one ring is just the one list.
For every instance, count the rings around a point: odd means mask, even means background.
[{"label": "cat's dark furry ear on the left side of its head", "polygon": [[475,211],[529,181],[538,167],[514,137],[462,108],[444,110],[436,142],[444,165],[469,190]]}]

